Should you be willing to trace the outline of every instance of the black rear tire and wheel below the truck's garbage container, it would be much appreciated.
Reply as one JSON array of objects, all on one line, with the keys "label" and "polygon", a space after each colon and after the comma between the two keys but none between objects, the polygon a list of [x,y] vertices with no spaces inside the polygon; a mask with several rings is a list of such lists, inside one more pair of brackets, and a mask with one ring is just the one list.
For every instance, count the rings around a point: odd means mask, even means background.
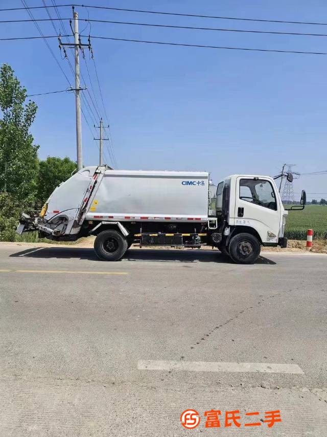
[{"label": "black rear tire and wheel below the truck's garbage container", "polygon": [[94,250],[103,261],[118,261],[127,250],[126,238],[117,231],[102,231],[94,242]]}]

